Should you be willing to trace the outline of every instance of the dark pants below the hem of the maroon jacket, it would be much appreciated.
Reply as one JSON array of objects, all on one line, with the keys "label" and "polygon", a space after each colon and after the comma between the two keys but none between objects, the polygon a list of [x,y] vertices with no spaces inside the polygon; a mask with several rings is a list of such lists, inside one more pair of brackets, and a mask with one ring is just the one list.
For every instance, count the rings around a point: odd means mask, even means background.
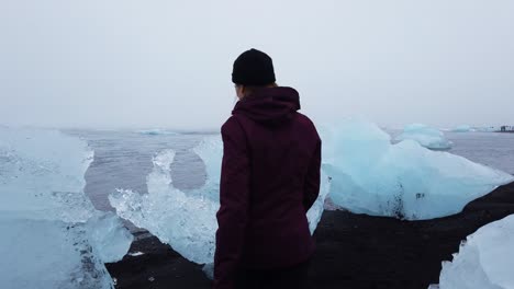
[{"label": "dark pants below the hem of the maroon jacket", "polygon": [[272,269],[242,269],[237,275],[237,289],[306,289],[310,262],[299,265]]}]

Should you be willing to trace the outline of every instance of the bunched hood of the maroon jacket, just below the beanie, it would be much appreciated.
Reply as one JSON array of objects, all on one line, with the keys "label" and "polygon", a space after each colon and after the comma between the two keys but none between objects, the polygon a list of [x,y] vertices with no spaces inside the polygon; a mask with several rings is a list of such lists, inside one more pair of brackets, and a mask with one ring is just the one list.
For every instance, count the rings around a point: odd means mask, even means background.
[{"label": "bunched hood of the maroon jacket, just below the beanie", "polygon": [[292,88],[265,88],[244,97],[232,111],[233,115],[269,125],[288,122],[300,109],[300,95]]}]

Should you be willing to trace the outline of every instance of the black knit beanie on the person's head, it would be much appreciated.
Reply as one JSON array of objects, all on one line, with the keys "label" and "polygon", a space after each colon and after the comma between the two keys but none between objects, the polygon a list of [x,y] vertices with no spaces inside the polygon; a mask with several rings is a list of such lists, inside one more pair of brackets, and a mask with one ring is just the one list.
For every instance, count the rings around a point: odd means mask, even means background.
[{"label": "black knit beanie on the person's head", "polygon": [[275,83],[273,60],[267,54],[249,49],[234,61],[232,82],[262,86]]}]

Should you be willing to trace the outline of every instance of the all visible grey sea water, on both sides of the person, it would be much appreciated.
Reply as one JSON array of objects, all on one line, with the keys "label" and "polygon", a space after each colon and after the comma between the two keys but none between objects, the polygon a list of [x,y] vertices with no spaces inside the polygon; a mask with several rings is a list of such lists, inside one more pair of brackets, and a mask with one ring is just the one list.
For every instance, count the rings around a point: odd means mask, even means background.
[{"label": "all visible grey sea water, on both sides of the person", "polygon": [[[176,151],[171,167],[174,185],[181,190],[199,188],[205,182],[205,166],[192,152],[206,134],[160,134],[158,131],[68,130],[88,141],[94,160],[86,173],[86,194],[100,210],[113,210],[108,195],[116,188],[147,193],[146,176],[152,158],[166,149]],[[393,137],[400,131],[388,131]],[[446,132],[454,142],[450,153],[514,174],[514,134]]]}]

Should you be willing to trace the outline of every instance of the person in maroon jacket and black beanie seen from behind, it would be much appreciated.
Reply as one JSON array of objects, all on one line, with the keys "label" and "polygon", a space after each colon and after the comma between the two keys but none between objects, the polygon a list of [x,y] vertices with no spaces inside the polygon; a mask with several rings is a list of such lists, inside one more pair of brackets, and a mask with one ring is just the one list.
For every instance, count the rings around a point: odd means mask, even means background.
[{"label": "person in maroon jacket and black beanie seen from behind", "polygon": [[276,84],[271,58],[234,62],[238,97],[221,128],[215,289],[304,288],[314,242],[305,212],[320,192],[321,139],[299,93]]}]

